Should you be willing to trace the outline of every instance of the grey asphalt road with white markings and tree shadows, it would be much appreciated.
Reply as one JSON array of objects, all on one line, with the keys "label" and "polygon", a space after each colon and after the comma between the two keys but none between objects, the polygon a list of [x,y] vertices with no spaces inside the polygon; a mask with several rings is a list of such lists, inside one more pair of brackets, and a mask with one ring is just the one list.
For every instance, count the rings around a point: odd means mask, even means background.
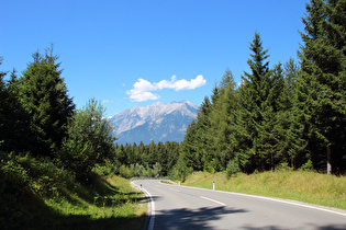
[{"label": "grey asphalt road with white markings and tree shadows", "polygon": [[150,197],[148,229],[343,229],[346,211],[237,193],[135,181]]}]

